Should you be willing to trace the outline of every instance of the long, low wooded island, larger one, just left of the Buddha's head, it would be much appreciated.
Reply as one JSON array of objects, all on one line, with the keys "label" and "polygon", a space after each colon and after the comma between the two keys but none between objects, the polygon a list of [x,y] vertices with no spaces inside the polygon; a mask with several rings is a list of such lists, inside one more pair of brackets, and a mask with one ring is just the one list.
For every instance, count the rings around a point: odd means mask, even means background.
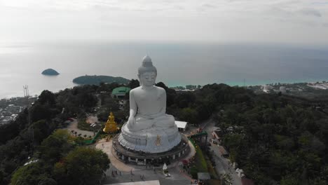
[{"label": "long, low wooded island, larger one, just left of the Buddha's head", "polygon": [[123,77],[114,77],[114,76],[78,76],[73,79],[73,83],[78,85],[99,85],[100,83],[129,83],[130,80]]}]

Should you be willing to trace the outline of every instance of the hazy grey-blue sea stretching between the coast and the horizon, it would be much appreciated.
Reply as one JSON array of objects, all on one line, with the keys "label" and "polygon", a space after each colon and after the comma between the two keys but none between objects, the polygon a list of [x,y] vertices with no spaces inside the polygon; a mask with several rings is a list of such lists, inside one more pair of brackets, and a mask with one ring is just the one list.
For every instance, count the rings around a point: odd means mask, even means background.
[{"label": "hazy grey-blue sea stretching between the coast and the horizon", "polygon": [[[74,41],[61,43],[0,43],[0,98],[42,90],[71,88],[83,75],[137,78],[148,54],[158,69],[157,81],[168,86],[259,85],[275,82],[328,80],[328,50],[324,47],[237,43],[128,43]],[[58,76],[43,76],[44,69]]]}]

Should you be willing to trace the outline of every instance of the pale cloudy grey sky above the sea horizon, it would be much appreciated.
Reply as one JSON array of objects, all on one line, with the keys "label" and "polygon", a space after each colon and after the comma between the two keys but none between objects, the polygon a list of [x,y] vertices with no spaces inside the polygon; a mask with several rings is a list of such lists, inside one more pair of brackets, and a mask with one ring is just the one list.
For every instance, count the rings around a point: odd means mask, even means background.
[{"label": "pale cloudy grey sky above the sea horizon", "polygon": [[0,0],[0,42],[328,45],[323,0]]}]

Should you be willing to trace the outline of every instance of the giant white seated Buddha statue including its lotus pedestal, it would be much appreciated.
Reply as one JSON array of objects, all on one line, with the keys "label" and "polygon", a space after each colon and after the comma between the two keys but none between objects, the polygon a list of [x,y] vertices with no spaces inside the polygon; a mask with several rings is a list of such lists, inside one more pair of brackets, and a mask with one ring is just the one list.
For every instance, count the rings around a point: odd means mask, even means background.
[{"label": "giant white seated Buddha statue including its lotus pedestal", "polygon": [[181,141],[175,118],[166,114],[166,93],[155,86],[157,69],[145,56],[138,69],[140,86],[130,91],[130,116],[118,141],[135,151],[160,153]]}]

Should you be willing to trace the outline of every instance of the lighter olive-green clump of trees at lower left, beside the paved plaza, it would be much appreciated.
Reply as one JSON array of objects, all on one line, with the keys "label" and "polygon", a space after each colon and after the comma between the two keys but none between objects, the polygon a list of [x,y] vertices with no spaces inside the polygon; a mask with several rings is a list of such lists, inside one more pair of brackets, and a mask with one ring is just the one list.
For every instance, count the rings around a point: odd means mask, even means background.
[{"label": "lighter olive-green clump of trees at lower left, beside the paved plaza", "polygon": [[56,130],[38,147],[39,160],[16,170],[11,184],[97,184],[109,167],[109,158],[97,149],[74,148],[76,139],[84,141],[67,130]]}]

